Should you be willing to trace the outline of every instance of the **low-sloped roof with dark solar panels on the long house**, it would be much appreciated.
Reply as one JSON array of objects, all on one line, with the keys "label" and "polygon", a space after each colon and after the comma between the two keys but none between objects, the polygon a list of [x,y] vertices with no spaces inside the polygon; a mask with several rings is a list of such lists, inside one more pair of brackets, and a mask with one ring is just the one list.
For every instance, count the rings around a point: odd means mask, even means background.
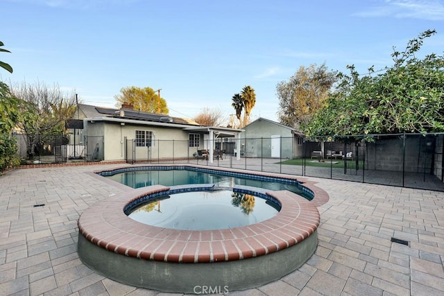
[{"label": "low-sloped roof with dark solar panels on the long house", "polygon": [[[149,112],[142,112],[130,109],[116,109],[107,107],[97,107],[93,105],[78,104],[78,112],[82,113],[85,119],[96,119],[99,121],[100,118],[103,119],[126,119],[132,121],[148,121],[148,122],[159,122],[159,123],[176,123],[185,125],[197,125],[200,126],[196,121],[191,119],[182,119],[179,117],[172,117],[166,114],[156,114]],[[79,115],[80,116],[80,115]]]}]

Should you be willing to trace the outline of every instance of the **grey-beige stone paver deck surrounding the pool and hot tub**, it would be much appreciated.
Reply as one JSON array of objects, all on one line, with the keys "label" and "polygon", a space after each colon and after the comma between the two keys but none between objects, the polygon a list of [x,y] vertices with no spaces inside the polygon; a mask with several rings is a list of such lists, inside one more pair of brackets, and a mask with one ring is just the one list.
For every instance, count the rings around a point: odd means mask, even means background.
[{"label": "grey-beige stone paver deck surrounding the pool and hot tub", "polygon": [[[91,173],[119,166],[126,164],[0,176],[0,295],[167,295],[102,277],[78,258],[80,214],[125,191]],[[444,295],[443,192],[298,180],[316,182],[330,195],[318,207],[314,256],[278,281],[231,295]]]}]

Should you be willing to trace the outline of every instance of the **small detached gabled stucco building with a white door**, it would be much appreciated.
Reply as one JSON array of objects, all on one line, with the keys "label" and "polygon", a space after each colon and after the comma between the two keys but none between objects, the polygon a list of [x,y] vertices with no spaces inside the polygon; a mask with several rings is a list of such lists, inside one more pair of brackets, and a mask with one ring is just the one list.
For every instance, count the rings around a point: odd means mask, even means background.
[{"label": "small detached gabled stucco building with a white door", "polygon": [[241,132],[241,155],[246,157],[302,157],[302,132],[287,125],[259,117]]}]

